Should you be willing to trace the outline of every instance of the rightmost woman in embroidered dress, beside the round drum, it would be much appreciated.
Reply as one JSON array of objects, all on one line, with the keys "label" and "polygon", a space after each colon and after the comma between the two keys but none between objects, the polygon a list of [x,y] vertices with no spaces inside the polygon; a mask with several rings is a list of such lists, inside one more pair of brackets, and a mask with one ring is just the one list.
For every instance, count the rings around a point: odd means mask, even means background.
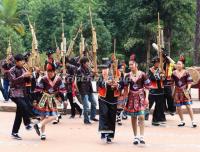
[{"label": "rightmost woman in embroidered dress, beside the round drum", "polygon": [[192,78],[190,74],[184,69],[184,63],[185,63],[184,57],[180,56],[180,59],[176,65],[176,70],[173,71],[172,74],[172,81],[175,85],[174,101],[177,107],[177,112],[181,119],[181,122],[178,126],[179,127],[185,126],[183,112],[182,112],[182,106],[185,105],[192,120],[192,127],[195,128],[197,127],[197,124],[193,121],[194,118],[193,118],[193,110],[191,108],[192,101],[190,95]]}]

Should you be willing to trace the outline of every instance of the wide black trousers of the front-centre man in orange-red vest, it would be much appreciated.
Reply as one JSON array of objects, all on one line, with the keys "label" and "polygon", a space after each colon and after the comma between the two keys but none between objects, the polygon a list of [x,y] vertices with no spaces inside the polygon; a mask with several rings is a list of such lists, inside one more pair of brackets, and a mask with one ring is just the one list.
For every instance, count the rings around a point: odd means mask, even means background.
[{"label": "wide black trousers of the front-centre man in orange-red vest", "polygon": [[99,98],[99,131],[108,132],[110,138],[115,135],[117,105],[109,104]]}]

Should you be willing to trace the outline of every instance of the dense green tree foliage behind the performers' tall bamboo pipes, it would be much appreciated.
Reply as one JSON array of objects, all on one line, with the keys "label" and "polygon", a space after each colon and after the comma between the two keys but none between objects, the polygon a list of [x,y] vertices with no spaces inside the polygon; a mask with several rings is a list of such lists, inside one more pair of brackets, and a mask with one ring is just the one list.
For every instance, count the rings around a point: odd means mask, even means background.
[{"label": "dense green tree foliage behind the performers' tall bamboo pipes", "polygon": [[[55,49],[61,42],[61,20],[67,44],[83,24],[86,49],[91,50],[92,31],[89,6],[93,25],[97,32],[98,60],[113,52],[116,39],[118,58],[128,60],[136,54],[137,62],[146,61],[147,40],[156,42],[157,13],[160,12],[165,38],[171,42],[171,56],[193,48],[195,27],[195,0],[0,0],[0,24],[23,33],[21,46],[31,49],[31,33],[27,20],[29,16],[36,28],[39,50]],[[23,24],[22,24],[23,23]],[[8,37],[8,36],[7,36]],[[21,37],[19,36],[19,40]],[[80,35],[73,54],[79,53]],[[7,41],[3,46],[7,45]],[[0,49],[2,46],[0,46]],[[156,54],[151,47],[151,57]],[[189,60],[188,60],[189,61]],[[192,60],[191,60],[192,61]],[[191,64],[191,61],[188,64]]]}]

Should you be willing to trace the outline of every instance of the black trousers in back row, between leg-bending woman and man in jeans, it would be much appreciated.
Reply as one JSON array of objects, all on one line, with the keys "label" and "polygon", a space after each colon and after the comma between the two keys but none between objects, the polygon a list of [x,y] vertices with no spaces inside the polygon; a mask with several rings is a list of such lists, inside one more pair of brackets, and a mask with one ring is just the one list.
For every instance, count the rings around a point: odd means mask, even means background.
[{"label": "black trousers in back row, between leg-bending woman and man in jeans", "polygon": [[69,99],[69,103],[70,103],[70,106],[71,106],[71,116],[75,116],[76,110],[79,112],[79,114],[81,114],[82,109],[80,108],[80,106],[77,103],[73,102],[72,93],[67,93],[67,98]]}]

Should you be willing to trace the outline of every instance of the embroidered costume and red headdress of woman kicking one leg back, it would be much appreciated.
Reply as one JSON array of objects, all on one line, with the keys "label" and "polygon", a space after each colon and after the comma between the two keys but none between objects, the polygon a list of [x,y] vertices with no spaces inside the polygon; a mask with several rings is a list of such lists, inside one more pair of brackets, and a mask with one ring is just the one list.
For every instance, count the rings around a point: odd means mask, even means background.
[{"label": "embroidered costume and red headdress of woman kicking one leg back", "polygon": [[[52,64],[47,64],[47,71],[55,71]],[[54,76],[52,79],[48,75],[42,77],[37,84],[35,93],[41,93],[42,97],[38,104],[34,106],[34,112],[40,116],[56,116],[58,97],[64,98],[65,85],[60,76]]]}]

